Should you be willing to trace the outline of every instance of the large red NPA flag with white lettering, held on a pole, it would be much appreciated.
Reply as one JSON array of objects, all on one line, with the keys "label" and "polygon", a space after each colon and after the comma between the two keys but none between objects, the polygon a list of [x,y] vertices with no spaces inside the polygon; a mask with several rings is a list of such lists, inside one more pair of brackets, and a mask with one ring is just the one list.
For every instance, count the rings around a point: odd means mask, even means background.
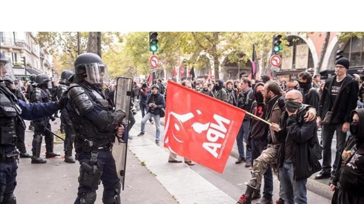
[{"label": "large red NPA flag with white lettering, held on a pole", "polygon": [[164,147],[222,173],[245,111],[173,81],[166,95]]}]

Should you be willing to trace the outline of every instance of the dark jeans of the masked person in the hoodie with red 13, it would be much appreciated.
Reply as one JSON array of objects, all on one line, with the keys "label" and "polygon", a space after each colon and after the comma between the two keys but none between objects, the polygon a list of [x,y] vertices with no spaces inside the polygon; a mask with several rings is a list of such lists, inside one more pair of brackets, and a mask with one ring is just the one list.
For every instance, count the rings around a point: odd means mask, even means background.
[{"label": "dark jeans of the masked person in the hoodie with red 13", "polygon": [[[268,145],[268,139],[264,140],[251,140],[250,141],[251,147],[252,147],[252,166],[254,163],[254,159],[258,158],[262,151],[264,150],[264,147],[267,147]],[[272,167],[269,167],[265,173],[264,173],[264,188],[263,188],[263,197],[266,197],[268,199],[272,199],[273,196],[273,173],[272,173]],[[260,189],[259,189],[260,192]]]}]

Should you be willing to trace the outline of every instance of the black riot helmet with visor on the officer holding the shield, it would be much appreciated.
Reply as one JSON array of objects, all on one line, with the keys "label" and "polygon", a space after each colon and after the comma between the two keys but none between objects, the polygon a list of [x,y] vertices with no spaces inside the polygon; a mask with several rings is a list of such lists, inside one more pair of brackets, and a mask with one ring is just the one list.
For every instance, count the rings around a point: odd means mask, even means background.
[{"label": "black riot helmet with visor on the officer holding the shield", "polygon": [[80,54],[75,60],[75,82],[86,77],[86,81],[99,84],[108,81],[107,68],[100,56],[95,53]]}]

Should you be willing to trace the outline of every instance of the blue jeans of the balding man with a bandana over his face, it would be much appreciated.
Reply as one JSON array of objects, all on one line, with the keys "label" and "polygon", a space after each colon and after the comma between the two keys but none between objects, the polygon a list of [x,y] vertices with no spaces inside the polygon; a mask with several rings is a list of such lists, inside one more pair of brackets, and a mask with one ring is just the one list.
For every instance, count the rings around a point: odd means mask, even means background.
[{"label": "blue jeans of the balding man with a bandana over his face", "polygon": [[307,179],[293,180],[293,163],[284,162],[279,168],[279,179],[281,181],[281,196],[285,204],[307,203]]}]

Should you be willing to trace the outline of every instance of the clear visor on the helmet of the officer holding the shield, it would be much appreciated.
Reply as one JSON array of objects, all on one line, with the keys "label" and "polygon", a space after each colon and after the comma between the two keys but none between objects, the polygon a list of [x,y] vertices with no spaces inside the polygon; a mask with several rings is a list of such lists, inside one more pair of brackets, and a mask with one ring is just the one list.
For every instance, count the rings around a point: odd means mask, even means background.
[{"label": "clear visor on the helmet of the officer holding the shield", "polygon": [[87,81],[95,84],[95,83],[103,83],[109,81],[109,76],[107,72],[107,68],[104,64],[101,63],[92,63],[86,64],[86,75]]}]

